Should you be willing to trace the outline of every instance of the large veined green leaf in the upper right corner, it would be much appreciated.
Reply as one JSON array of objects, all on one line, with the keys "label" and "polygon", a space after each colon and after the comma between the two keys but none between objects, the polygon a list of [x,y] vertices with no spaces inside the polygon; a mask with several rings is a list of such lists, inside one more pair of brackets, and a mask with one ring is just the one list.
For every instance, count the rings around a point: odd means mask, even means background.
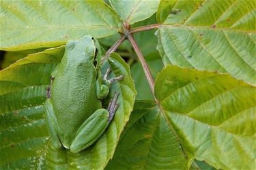
[{"label": "large veined green leaf in the upper right corner", "polygon": [[177,1],[156,32],[165,65],[227,72],[256,84],[255,9],[248,0]]}]

